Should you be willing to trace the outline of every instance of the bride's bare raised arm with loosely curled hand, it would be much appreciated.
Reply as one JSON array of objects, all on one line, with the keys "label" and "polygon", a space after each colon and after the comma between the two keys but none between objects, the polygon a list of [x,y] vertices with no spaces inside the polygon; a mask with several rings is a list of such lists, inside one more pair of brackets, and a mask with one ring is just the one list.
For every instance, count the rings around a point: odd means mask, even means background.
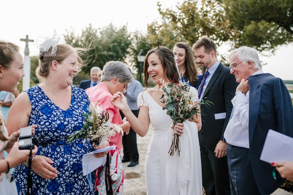
[{"label": "bride's bare raised arm with loosely curled hand", "polygon": [[149,130],[149,107],[141,106],[139,109],[138,118],[132,113],[129,106],[127,105],[127,100],[125,96],[117,92],[111,99],[111,102],[119,108],[124,116],[127,118],[132,129],[141,137],[144,137]]}]

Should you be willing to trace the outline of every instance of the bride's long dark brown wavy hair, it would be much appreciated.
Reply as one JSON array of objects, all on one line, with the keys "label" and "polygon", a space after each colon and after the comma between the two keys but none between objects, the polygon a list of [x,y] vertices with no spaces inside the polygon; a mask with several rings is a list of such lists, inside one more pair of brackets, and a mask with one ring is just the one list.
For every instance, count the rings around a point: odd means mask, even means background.
[{"label": "bride's long dark brown wavy hair", "polygon": [[178,82],[179,73],[176,68],[173,52],[165,46],[158,46],[156,48],[150,49],[146,57],[144,58],[144,85],[147,87],[151,87],[148,82],[149,73],[147,72],[147,58],[151,53],[156,53],[159,56],[166,79],[168,79],[170,82],[174,81],[175,79],[175,81]]}]

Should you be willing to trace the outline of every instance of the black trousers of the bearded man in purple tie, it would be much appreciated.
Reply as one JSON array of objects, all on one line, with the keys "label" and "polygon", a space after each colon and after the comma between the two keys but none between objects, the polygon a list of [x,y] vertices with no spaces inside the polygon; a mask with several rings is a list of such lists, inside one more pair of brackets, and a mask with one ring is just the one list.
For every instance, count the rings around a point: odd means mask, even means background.
[{"label": "black trousers of the bearded man in purple tie", "polygon": [[215,155],[206,145],[200,146],[202,185],[206,195],[230,195],[227,158]]}]

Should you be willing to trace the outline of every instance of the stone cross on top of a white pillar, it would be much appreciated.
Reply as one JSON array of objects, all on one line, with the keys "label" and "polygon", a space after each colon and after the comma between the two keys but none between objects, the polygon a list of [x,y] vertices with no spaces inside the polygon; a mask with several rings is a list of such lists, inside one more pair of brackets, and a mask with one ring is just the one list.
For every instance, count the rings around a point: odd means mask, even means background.
[{"label": "stone cross on top of a white pillar", "polygon": [[28,42],[34,42],[32,39],[28,39],[28,35],[26,35],[25,39],[20,39],[21,41],[25,41],[25,50],[24,50],[24,59],[23,59],[23,72],[25,76],[22,77],[22,91],[30,88],[30,54],[28,50]]}]

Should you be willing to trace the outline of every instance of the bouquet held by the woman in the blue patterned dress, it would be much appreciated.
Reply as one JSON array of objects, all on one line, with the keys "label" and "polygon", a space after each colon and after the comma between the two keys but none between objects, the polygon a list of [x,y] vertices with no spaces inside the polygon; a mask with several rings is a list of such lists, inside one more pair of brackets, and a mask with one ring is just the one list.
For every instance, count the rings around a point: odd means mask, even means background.
[{"label": "bouquet held by the woman in the blue patterned dress", "polygon": [[109,121],[109,113],[98,102],[91,102],[88,111],[88,113],[83,114],[85,116],[84,126],[67,138],[69,139],[68,143],[78,138],[86,138],[95,145],[99,145],[101,141],[115,136],[116,132],[122,132],[119,125],[112,124]]}]

